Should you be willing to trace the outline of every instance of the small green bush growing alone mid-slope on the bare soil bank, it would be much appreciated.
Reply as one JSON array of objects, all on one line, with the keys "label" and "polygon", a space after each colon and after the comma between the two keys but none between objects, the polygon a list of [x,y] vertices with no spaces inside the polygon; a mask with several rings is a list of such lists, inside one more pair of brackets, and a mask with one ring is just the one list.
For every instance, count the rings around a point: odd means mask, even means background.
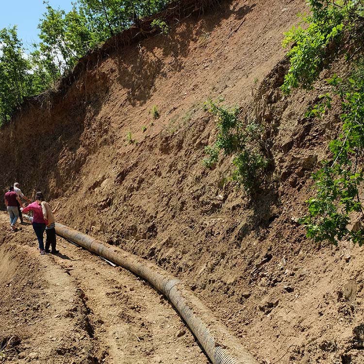
[{"label": "small green bush growing alone mid-slope on the bare soil bank", "polygon": [[262,126],[247,118],[242,120],[238,108],[226,107],[221,100],[208,101],[207,109],[217,116],[218,134],[214,145],[205,147],[208,157],[203,165],[212,168],[223,150],[225,155],[233,156],[232,180],[250,194],[258,192],[268,166]]}]

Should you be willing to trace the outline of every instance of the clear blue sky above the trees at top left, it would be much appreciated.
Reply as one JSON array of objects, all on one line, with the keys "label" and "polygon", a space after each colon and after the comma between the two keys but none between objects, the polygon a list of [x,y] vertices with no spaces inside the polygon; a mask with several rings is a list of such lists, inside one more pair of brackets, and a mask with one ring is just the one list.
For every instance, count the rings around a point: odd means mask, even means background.
[{"label": "clear blue sky above the trees at top left", "polygon": [[[49,0],[49,3],[53,8],[67,12],[72,8],[71,1]],[[37,25],[45,11],[43,0],[0,0],[0,29],[17,25],[17,33],[24,46],[38,42]]]}]

